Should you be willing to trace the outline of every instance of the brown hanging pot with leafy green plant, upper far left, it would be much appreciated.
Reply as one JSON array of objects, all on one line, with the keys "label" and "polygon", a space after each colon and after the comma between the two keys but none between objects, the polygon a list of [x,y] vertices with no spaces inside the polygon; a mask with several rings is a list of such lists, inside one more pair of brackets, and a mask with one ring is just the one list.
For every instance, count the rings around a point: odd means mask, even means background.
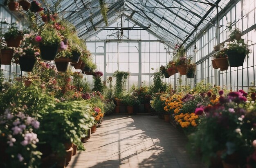
[{"label": "brown hanging pot with leafy green plant, upper far left", "polygon": [[16,25],[16,23],[12,23],[8,31],[4,33],[3,37],[8,47],[19,47],[20,41],[23,39],[23,32],[19,31]]}]

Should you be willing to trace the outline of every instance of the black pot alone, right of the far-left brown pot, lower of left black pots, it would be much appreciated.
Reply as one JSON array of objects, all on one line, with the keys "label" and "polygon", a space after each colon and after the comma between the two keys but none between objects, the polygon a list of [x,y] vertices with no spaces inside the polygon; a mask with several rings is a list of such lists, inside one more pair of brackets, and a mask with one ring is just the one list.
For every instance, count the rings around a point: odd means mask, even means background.
[{"label": "black pot alone, right of the far-left brown pot, lower of left black pots", "polygon": [[22,56],[19,57],[20,60],[20,70],[25,72],[31,72],[36,63],[35,57]]}]

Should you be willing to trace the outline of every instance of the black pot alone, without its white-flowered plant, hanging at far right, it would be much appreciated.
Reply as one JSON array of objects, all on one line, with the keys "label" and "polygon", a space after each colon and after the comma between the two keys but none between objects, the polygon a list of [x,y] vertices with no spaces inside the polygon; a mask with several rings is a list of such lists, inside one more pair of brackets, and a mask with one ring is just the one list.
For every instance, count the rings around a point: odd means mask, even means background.
[{"label": "black pot alone, without its white-flowered plant, hanging at far right", "polygon": [[244,61],[245,61],[245,53],[229,51],[229,52],[227,52],[227,58],[229,59],[229,65],[231,67],[243,66]]}]

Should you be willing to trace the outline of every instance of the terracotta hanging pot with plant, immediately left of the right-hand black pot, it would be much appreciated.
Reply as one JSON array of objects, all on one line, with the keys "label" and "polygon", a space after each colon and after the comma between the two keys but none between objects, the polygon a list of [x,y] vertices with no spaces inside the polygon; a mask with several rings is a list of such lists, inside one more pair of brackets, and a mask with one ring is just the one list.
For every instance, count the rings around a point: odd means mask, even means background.
[{"label": "terracotta hanging pot with plant, immediately left of the right-hand black pot", "polygon": [[225,51],[226,49],[222,48],[216,53],[216,55],[213,56],[217,67],[220,68],[221,71],[229,69],[229,63],[227,61],[227,54]]}]

